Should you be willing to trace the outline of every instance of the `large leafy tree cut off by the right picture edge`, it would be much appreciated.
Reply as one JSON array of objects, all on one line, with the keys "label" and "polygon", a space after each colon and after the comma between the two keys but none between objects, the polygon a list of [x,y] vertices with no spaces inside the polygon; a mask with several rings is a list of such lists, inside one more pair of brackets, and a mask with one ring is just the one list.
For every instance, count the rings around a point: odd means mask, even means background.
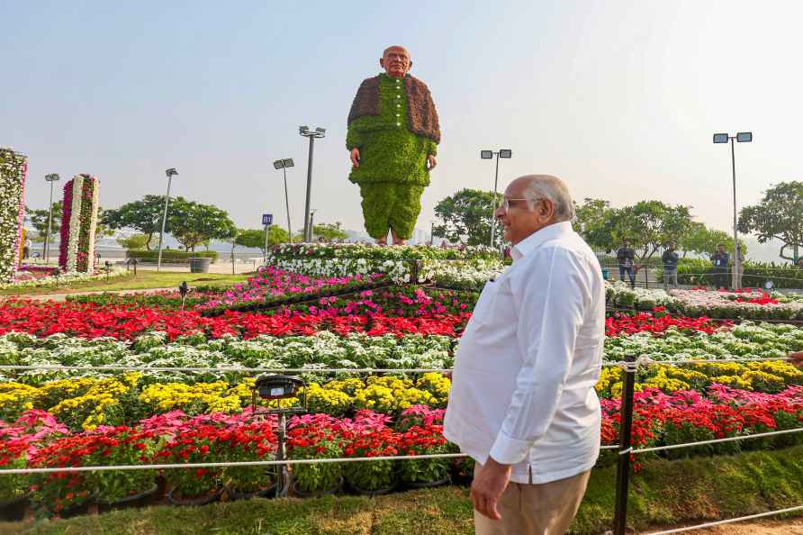
[{"label": "large leafy tree cut off by the right picture edge", "polygon": [[[803,249],[803,182],[781,182],[764,192],[760,204],[745,206],[739,213],[740,232],[753,232],[759,243],[779,240],[779,256],[796,261]],[[792,256],[785,253],[792,249]]]}]

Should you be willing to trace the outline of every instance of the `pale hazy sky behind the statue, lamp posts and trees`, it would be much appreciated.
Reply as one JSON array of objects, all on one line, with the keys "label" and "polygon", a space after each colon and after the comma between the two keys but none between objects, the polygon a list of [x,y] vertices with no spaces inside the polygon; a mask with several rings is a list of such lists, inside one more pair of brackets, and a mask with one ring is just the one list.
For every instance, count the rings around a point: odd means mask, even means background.
[{"label": "pale hazy sky behind the statue, lamp posts and trees", "polygon": [[501,189],[522,174],[563,177],[573,196],[614,205],[690,204],[730,231],[730,154],[739,204],[801,179],[803,2],[13,2],[0,0],[0,145],[30,158],[27,204],[42,177],[89,172],[101,204],[163,194],[284,223],[274,159],[302,226],[307,141],[317,141],[316,222],[362,230],[347,181],[346,117],[385,46],[411,50],[443,140],[418,227],[462,187],[490,188],[483,148],[510,148]]}]

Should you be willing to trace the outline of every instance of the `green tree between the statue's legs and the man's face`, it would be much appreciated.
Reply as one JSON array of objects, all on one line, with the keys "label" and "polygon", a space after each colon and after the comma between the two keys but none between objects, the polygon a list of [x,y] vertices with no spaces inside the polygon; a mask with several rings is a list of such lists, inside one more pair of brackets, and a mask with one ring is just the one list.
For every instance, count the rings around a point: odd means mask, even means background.
[{"label": "green tree between the statue's legs and the man's face", "polygon": [[433,227],[433,234],[453,243],[485,245],[491,241],[491,225],[496,224],[496,236],[501,238],[503,227],[493,219],[493,211],[500,202],[494,202],[491,192],[462,189],[449,195],[435,206],[435,215],[441,220]]}]

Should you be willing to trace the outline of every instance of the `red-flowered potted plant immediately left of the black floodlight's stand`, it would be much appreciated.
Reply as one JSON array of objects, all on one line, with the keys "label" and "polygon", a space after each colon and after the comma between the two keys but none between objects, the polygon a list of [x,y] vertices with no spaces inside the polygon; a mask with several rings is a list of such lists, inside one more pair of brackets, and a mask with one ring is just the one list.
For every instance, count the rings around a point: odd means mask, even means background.
[{"label": "red-flowered potted plant immediately left of the black floodlight's stand", "polygon": [[[257,422],[221,434],[221,459],[230,462],[275,460],[275,423]],[[255,496],[270,497],[275,490],[276,468],[225,467],[223,487],[230,500],[249,500]]]}]

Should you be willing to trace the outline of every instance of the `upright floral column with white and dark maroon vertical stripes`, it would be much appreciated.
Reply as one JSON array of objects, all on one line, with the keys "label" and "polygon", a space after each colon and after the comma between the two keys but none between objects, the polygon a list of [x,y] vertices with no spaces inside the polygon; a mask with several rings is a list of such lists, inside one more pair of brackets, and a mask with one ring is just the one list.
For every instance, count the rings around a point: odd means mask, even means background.
[{"label": "upright floral column with white and dark maroon vertical stripes", "polygon": [[64,185],[59,266],[67,272],[92,273],[95,269],[98,180],[76,175]]}]

